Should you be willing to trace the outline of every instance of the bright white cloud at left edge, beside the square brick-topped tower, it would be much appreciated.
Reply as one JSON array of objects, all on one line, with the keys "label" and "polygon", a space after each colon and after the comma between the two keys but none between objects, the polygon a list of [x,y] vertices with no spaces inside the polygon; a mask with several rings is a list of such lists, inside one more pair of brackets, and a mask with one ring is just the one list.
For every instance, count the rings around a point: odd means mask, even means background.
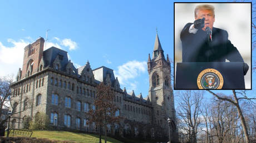
[{"label": "bright white cloud at left edge, beside the square brick-topped tower", "polygon": [[16,76],[18,68],[22,68],[24,47],[29,43],[20,39],[8,39],[12,46],[6,47],[0,42],[0,76],[11,74]]}]

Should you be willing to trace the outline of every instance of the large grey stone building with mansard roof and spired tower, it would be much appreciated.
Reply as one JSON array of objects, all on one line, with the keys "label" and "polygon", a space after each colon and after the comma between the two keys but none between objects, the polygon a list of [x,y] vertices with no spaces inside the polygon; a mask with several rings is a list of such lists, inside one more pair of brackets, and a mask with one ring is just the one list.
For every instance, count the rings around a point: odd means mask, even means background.
[{"label": "large grey stone building with mansard roof and spired tower", "polygon": [[[87,112],[95,108],[93,100],[96,86],[100,82],[111,85],[115,90],[115,103],[122,116],[120,124],[112,127],[122,136],[168,137],[168,117],[171,118],[171,134],[176,135],[174,95],[171,87],[170,60],[164,56],[156,34],[152,58],[147,60],[149,72],[149,95],[127,93],[121,89],[112,69],[100,67],[91,69],[90,63],[75,68],[68,60],[67,52],[55,47],[43,50],[45,40],[24,48],[22,69],[13,83],[12,127],[22,129],[28,118],[45,113],[50,126],[56,129],[75,129],[95,132],[94,124],[87,125]],[[111,125],[108,125],[110,128]]]}]

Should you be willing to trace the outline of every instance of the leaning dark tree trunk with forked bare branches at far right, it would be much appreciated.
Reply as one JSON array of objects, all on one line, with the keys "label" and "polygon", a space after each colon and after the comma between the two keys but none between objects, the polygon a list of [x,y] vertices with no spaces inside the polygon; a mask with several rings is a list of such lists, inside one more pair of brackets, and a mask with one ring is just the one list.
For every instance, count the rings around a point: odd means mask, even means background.
[{"label": "leaning dark tree trunk with forked bare branches at far right", "polygon": [[[225,95],[215,94],[215,93],[213,93],[213,91],[210,91],[210,90],[207,90],[207,91],[210,94],[213,94],[219,100],[228,101],[229,103],[233,104],[235,106],[235,108],[237,108],[238,116],[240,118],[240,122],[241,122],[241,125],[243,127],[243,131],[244,131],[245,142],[249,143],[250,139],[249,139],[248,129],[247,129],[247,125],[246,125],[246,122],[245,122],[245,119],[244,119],[243,112],[240,108],[239,101],[242,100],[242,99],[247,100],[247,101],[251,101],[251,100],[254,100],[256,98],[248,98],[248,96],[245,94],[245,91],[238,92],[238,91],[232,90],[233,91],[233,97],[232,98],[228,97],[228,96],[225,96]],[[241,97],[238,98],[237,94],[239,94]]]}]

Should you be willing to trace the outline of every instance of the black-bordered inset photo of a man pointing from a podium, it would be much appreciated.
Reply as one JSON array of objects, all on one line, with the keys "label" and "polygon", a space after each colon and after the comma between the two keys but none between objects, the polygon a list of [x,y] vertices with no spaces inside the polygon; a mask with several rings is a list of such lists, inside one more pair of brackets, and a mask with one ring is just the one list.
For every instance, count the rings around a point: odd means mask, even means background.
[{"label": "black-bordered inset photo of a man pointing from a podium", "polygon": [[174,89],[252,89],[252,3],[174,3],[174,64]]}]

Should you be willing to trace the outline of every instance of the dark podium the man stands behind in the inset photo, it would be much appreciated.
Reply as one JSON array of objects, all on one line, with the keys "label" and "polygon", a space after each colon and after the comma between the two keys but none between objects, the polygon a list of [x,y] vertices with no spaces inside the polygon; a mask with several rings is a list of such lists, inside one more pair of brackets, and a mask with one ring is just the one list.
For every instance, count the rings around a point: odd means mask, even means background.
[{"label": "dark podium the man stands behind in the inset photo", "polygon": [[[203,75],[205,69],[215,69],[222,75],[223,80],[220,78],[220,83],[223,81],[221,89],[245,89],[243,66],[242,62],[177,63],[175,89],[199,89],[200,80],[206,79]],[[200,75],[203,78],[199,79]]]}]

